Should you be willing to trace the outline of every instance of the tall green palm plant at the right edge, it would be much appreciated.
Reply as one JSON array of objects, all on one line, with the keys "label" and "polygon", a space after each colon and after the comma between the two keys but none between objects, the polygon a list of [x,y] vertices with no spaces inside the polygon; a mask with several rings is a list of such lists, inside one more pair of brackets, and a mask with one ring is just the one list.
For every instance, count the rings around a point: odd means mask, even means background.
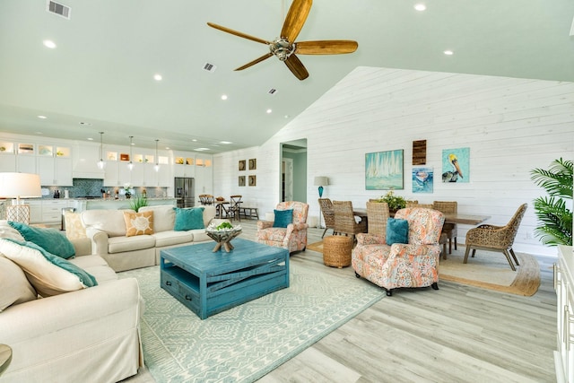
[{"label": "tall green palm plant at the right edge", "polygon": [[[534,200],[535,214],[541,223],[535,228],[535,236],[544,245],[572,246],[572,161],[552,161],[548,170],[531,170],[531,179],[543,187],[548,196]],[[569,208],[570,206],[570,208]]]}]

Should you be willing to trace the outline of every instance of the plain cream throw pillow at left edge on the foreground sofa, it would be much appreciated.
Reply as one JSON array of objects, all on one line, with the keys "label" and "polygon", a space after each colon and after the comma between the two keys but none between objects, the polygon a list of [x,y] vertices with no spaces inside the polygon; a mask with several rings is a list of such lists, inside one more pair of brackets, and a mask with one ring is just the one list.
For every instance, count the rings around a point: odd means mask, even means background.
[{"label": "plain cream throw pillow at left edge on the foreground sofa", "polygon": [[13,304],[38,298],[19,265],[0,254],[0,312]]}]

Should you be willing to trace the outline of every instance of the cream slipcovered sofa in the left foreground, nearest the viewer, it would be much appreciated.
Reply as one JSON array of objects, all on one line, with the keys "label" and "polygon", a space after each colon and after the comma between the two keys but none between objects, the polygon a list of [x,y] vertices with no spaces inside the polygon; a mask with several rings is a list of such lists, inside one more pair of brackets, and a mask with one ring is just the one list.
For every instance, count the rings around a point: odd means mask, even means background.
[{"label": "cream slipcovered sofa in the left foreground, nearest the viewer", "polygon": [[[0,226],[0,238],[13,238]],[[137,280],[117,279],[103,258],[86,255],[90,240],[72,242],[69,261],[98,285],[47,298],[36,299],[19,266],[0,254],[0,302],[13,302],[0,312],[0,344],[13,350],[0,382],[116,382],[143,366]],[[31,298],[14,301],[25,290]]]}]

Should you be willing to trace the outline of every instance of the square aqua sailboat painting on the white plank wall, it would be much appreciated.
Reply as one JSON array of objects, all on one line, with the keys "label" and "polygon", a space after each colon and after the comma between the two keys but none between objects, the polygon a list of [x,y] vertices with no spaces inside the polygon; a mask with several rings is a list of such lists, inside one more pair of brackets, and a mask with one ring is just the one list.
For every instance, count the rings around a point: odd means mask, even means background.
[{"label": "square aqua sailboat painting on the white plank wall", "polygon": [[400,190],[403,181],[403,150],[365,154],[365,188]]}]

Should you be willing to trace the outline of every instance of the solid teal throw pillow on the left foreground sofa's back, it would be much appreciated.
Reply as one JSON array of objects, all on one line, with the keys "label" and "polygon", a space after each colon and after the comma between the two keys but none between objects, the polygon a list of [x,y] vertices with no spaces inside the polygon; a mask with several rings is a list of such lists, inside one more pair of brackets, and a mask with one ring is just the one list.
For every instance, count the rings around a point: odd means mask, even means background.
[{"label": "solid teal throw pillow on the left foreground sofa's back", "polygon": [[24,239],[44,248],[48,253],[65,259],[75,256],[74,245],[57,229],[35,228],[13,221],[8,221],[8,224],[19,231]]}]

